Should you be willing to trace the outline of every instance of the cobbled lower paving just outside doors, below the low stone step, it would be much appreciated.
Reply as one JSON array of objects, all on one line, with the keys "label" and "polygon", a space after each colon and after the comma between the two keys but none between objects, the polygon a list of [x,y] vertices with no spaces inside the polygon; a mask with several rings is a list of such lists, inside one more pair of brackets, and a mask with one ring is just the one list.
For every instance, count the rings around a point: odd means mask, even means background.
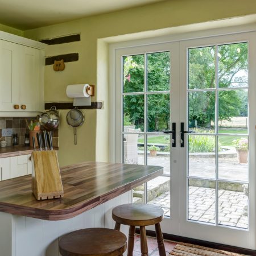
[{"label": "cobbled lower paving just outside doors, below the low stone step", "polygon": [[[148,202],[162,207],[165,216],[170,216],[170,192],[163,193]],[[218,191],[218,224],[248,228],[248,217],[243,208],[247,205],[247,196],[243,192]],[[215,189],[189,187],[189,220],[215,223]]]}]

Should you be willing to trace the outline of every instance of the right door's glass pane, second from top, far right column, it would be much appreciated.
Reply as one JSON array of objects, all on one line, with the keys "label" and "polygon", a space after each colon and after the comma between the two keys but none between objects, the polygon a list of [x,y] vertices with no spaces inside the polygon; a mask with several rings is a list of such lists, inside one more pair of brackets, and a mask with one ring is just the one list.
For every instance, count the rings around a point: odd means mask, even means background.
[{"label": "right door's glass pane, second from top, far right column", "polygon": [[218,92],[219,133],[248,133],[248,90]]}]

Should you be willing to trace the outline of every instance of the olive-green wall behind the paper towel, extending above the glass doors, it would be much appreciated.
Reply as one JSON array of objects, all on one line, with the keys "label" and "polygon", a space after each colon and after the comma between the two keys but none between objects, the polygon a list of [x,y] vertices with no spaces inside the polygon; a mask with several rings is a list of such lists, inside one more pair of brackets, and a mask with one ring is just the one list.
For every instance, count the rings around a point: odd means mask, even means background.
[{"label": "olive-green wall behind the paper towel, extending above the glass doors", "polygon": [[61,112],[60,165],[108,161],[108,45],[100,45],[97,39],[255,13],[255,0],[170,0],[24,31],[24,36],[34,40],[81,33],[80,42],[46,47],[46,56],[79,53],[79,61],[66,63],[63,72],[55,72],[51,66],[45,68],[46,101],[71,101],[65,89],[68,84],[80,83],[96,84],[92,100],[104,101],[103,110],[84,111],[85,123],[77,129],[77,146],[73,145],[72,127],[65,123],[66,112]]}]

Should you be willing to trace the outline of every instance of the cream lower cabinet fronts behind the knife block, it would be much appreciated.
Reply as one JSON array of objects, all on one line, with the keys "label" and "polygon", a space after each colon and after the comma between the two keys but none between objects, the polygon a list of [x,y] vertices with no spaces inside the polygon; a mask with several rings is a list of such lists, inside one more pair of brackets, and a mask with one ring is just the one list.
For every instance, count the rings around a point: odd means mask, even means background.
[{"label": "cream lower cabinet fronts behind the knife block", "polygon": [[31,155],[0,158],[0,179],[7,180],[32,173]]}]

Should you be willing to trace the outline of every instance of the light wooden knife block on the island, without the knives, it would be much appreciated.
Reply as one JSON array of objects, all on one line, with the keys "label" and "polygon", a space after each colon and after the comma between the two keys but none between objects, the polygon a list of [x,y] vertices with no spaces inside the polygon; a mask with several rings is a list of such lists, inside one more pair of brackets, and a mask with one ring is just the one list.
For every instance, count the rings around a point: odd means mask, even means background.
[{"label": "light wooden knife block on the island, without the knives", "polygon": [[32,191],[37,200],[64,196],[56,151],[33,151]]}]

